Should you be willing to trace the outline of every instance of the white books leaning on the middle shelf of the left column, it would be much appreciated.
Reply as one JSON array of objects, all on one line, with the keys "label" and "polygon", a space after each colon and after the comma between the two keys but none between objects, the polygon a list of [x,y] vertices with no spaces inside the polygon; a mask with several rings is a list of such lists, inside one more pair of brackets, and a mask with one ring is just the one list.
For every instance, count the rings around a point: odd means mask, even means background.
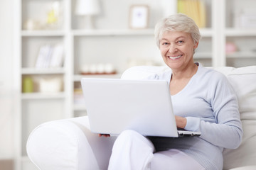
[{"label": "white books leaning on the middle shelf of the left column", "polygon": [[63,45],[43,45],[36,60],[36,68],[60,68],[63,66]]}]

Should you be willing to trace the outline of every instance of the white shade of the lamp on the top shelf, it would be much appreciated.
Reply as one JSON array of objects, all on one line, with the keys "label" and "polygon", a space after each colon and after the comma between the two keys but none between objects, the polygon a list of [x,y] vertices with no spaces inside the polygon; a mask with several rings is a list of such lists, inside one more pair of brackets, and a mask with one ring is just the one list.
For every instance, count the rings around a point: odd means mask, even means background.
[{"label": "white shade of the lamp on the top shelf", "polygon": [[98,0],[77,0],[75,4],[75,14],[78,16],[92,16],[100,13]]}]

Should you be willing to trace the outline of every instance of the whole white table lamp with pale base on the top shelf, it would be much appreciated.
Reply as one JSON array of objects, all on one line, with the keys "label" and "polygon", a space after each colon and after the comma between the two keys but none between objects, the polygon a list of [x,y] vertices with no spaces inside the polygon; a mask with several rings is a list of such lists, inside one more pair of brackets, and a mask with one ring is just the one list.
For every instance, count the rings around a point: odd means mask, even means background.
[{"label": "whole white table lamp with pale base on the top shelf", "polygon": [[100,13],[100,4],[98,0],[77,0],[75,4],[75,14],[85,16],[86,28],[93,29],[92,16]]}]

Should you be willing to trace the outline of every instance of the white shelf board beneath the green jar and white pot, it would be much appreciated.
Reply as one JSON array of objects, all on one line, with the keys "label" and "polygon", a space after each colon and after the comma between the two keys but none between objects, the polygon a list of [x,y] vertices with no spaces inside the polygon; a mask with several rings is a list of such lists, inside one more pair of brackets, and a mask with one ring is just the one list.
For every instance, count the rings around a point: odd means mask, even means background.
[{"label": "white shelf board beneath the green jar and white pot", "polygon": [[56,92],[56,93],[29,93],[29,94],[22,94],[22,99],[50,99],[50,98],[65,98],[64,92]]}]

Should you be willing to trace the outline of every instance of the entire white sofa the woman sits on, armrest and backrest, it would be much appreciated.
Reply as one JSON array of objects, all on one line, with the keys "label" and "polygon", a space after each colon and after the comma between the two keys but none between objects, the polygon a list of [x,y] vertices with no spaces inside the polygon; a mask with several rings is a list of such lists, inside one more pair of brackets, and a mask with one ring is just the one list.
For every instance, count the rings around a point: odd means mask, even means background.
[{"label": "entire white sofa the woman sits on, armrest and backrest", "polygon": [[[132,67],[122,79],[142,79],[166,67]],[[238,95],[244,136],[238,149],[225,149],[223,169],[256,169],[256,66],[215,68],[225,74]],[[118,104],[118,103],[117,103]],[[90,132],[87,117],[54,120],[39,125],[28,138],[27,152],[41,170],[107,169],[116,137]]]}]

